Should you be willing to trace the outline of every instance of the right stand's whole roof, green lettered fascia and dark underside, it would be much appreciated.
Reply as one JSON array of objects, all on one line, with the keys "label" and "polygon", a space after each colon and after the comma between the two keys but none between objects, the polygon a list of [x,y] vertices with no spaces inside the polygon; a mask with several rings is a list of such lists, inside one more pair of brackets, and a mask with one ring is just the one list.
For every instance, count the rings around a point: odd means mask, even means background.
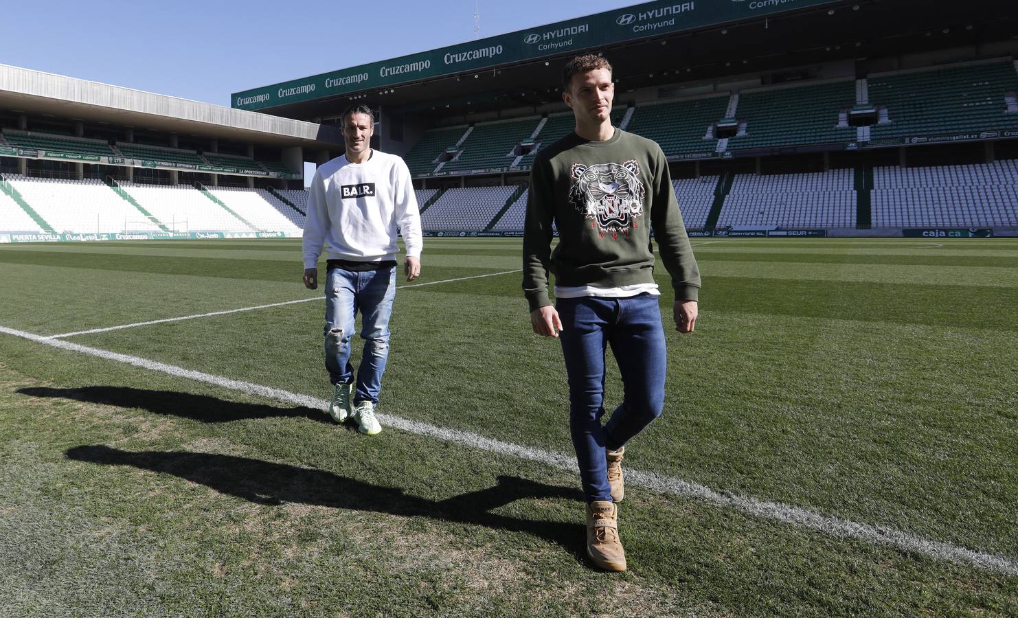
[{"label": "right stand's whole roof, green lettered fascia and dark underside", "polygon": [[[658,27],[632,32],[654,24]],[[620,35],[619,29],[629,29],[628,34]],[[252,89],[233,95],[231,105],[330,119],[356,101],[442,117],[559,101],[564,59],[584,49],[610,58],[625,92],[978,46],[1010,39],[1015,32],[1018,3],[1001,0],[669,0]],[[531,49],[527,41],[539,43]],[[491,52],[493,45],[501,45],[502,53]],[[489,51],[483,55],[482,50]],[[471,51],[478,57],[461,59]],[[448,65],[447,55],[454,56]],[[430,67],[391,72],[413,63],[419,68],[421,62]]]}]

